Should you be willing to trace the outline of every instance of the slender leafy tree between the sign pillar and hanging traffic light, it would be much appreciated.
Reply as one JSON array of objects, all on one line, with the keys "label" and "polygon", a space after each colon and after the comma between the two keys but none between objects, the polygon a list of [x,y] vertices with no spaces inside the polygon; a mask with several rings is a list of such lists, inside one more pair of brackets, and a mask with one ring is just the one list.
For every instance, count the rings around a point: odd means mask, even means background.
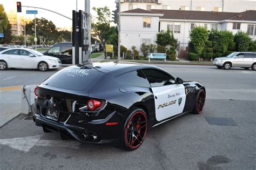
[{"label": "slender leafy tree between the sign pillar and hanging traffic light", "polygon": [[[105,58],[106,58],[106,47],[105,43],[107,40],[107,31],[110,30],[110,23],[111,23],[111,12],[110,9],[105,6],[103,8],[92,8],[94,11],[97,12],[97,17],[94,19],[95,21],[92,22],[91,27],[95,34],[99,37],[100,41],[103,43],[103,48],[105,50]],[[93,20],[93,19],[92,19]]]}]

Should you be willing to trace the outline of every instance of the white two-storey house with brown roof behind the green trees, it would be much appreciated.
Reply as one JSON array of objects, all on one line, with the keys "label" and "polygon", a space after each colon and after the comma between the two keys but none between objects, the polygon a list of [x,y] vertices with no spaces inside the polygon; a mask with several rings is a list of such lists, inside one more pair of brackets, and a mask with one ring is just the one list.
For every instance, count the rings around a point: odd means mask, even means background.
[{"label": "white two-storey house with brown roof behind the green trees", "polygon": [[[142,0],[141,0],[142,1]],[[189,42],[189,32],[194,26],[204,26],[208,30],[228,30],[247,32],[256,40],[256,10],[244,12],[213,12],[186,10],[143,10],[134,9],[121,13],[121,44],[131,49],[140,49],[142,43],[156,44],[157,33],[173,31],[178,39],[179,57],[185,58]]]}]

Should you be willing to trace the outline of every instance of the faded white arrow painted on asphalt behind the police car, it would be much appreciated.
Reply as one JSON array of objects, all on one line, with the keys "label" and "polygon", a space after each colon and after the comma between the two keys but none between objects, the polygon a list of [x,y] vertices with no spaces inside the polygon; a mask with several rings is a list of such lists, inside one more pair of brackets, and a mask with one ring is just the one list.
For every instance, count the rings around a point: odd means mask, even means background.
[{"label": "faded white arrow painted on asphalt behind the police car", "polygon": [[41,140],[42,136],[43,135],[35,135],[24,138],[0,139],[0,145],[8,146],[23,152],[29,152],[33,146],[79,149],[81,145],[78,141]]}]

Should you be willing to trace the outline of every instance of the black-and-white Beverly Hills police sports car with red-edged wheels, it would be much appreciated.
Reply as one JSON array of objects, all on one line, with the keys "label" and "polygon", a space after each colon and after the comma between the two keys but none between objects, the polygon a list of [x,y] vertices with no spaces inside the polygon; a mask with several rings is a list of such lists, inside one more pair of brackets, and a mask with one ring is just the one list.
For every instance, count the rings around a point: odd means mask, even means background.
[{"label": "black-and-white Beverly Hills police sports car with red-edged wheels", "polygon": [[133,150],[147,130],[202,112],[205,87],[157,66],[97,62],[66,67],[35,89],[33,120],[44,132]]}]

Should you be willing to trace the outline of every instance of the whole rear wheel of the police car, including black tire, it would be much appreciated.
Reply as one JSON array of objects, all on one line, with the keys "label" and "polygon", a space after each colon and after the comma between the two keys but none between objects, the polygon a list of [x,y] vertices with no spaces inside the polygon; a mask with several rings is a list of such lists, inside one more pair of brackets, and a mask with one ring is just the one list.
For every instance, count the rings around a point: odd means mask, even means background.
[{"label": "whole rear wheel of the police car, including black tire", "polygon": [[119,147],[133,151],[142,145],[147,132],[147,115],[141,108],[134,108],[122,126]]}]

